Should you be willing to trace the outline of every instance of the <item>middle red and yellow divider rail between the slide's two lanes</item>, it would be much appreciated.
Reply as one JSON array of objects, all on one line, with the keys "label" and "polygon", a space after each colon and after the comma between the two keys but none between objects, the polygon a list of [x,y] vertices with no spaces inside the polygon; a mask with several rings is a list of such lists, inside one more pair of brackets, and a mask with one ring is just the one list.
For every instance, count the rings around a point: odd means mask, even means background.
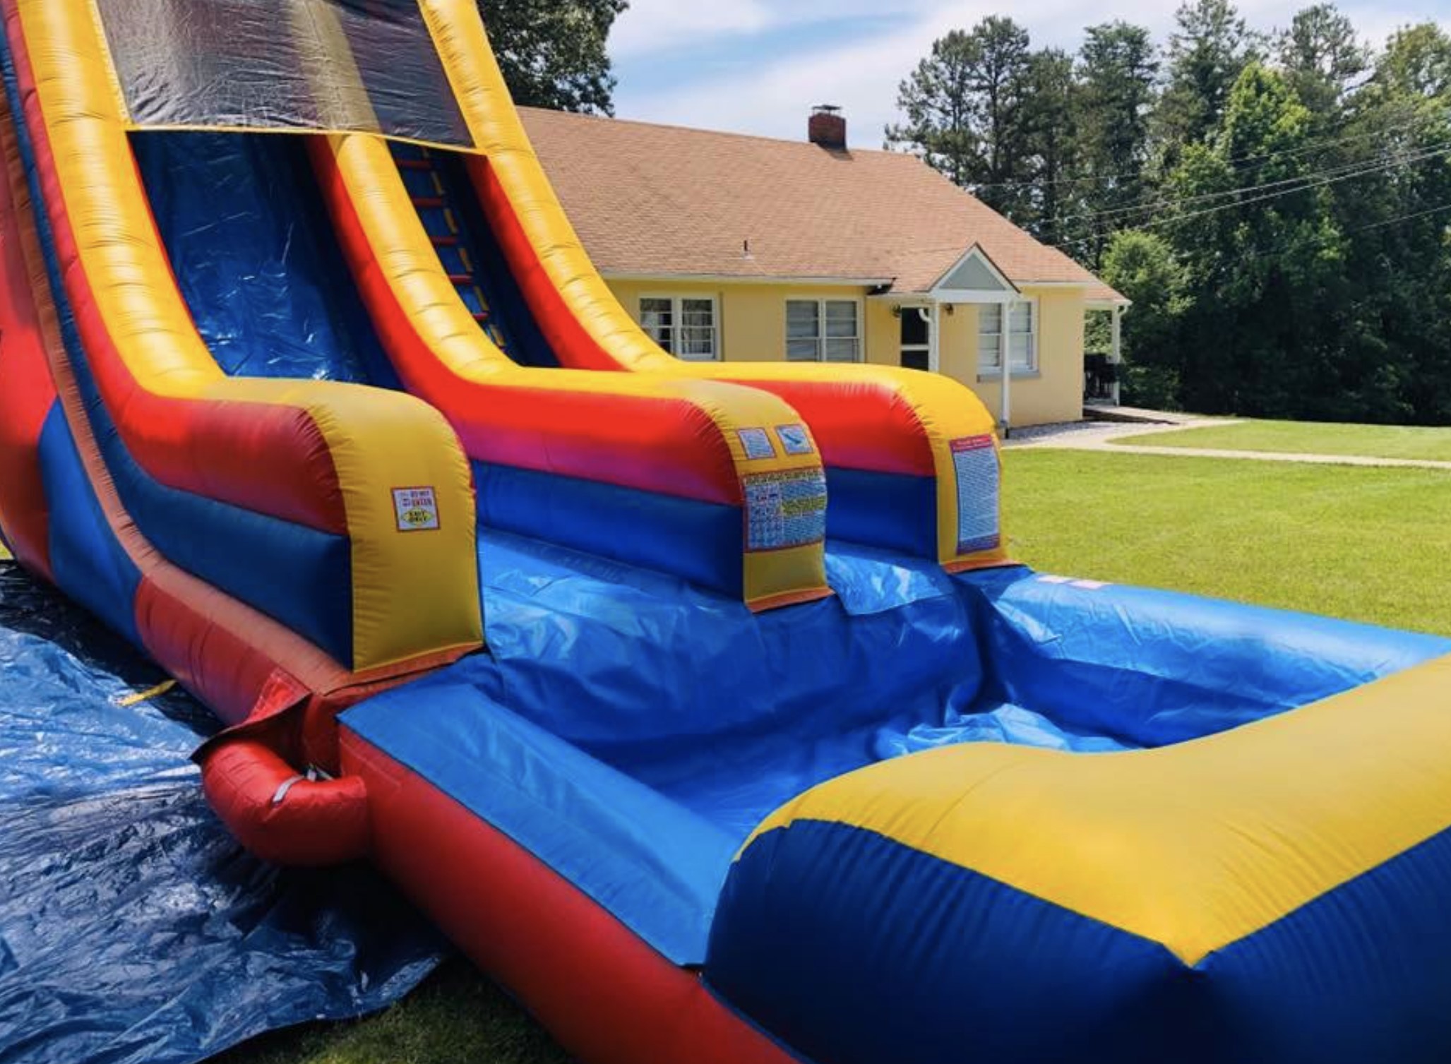
[{"label": "middle red and yellow divider rail between the slide's two lanes", "polygon": [[[800,422],[765,392],[678,376],[517,366],[459,299],[383,141],[318,138],[313,161],[399,376],[448,417],[469,457],[736,508],[746,505],[749,476],[820,470],[814,451],[746,453],[739,430]],[[823,549],[817,540],[743,550],[744,602],[762,610],[830,594]]]}]

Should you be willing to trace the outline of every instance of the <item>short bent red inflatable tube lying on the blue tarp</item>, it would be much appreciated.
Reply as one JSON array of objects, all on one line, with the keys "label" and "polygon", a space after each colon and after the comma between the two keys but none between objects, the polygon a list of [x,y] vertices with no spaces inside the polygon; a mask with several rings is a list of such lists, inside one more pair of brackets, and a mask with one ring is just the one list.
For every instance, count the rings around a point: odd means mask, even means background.
[{"label": "short bent red inflatable tube lying on the blue tarp", "polygon": [[326,868],[367,856],[367,788],[357,777],[306,779],[268,746],[237,737],[202,753],[202,790],[263,861]]}]

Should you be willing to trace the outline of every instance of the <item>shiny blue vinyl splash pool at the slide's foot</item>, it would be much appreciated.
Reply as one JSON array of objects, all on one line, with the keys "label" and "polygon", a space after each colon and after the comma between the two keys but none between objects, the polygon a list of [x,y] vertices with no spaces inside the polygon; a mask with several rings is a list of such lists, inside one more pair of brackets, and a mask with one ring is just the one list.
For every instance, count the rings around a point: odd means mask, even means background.
[{"label": "shiny blue vinyl splash pool at the slide's foot", "polygon": [[[863,765],[965,742],[1091,755],[1345,691],[1451,640],[833,544],[831,599],[755,615],[681,581],[486,531],[493,656],[344,716],[679,964],[734,851]],[[419,707],[427,705],[427,713]]]}]

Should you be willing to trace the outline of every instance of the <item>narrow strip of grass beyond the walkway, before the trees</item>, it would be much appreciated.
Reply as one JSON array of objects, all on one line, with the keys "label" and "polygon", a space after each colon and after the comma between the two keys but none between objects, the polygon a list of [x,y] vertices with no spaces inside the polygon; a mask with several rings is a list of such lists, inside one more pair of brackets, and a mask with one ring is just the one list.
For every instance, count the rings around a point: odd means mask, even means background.
[{"label": "narrow strip of grass beyond the walkway, before the trees", "polygon": [[1210,447],[1284,454],[1364,454],[1376,459],[1451,462],[1451,428],[1328,425],[1310,421],[1241,421],[1113,440],[1120,446]]}]

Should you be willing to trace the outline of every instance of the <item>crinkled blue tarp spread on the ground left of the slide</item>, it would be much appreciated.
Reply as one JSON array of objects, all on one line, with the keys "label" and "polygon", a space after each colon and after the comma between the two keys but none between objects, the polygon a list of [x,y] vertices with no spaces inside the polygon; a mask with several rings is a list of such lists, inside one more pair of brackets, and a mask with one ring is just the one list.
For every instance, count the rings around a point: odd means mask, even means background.
[{"label": "crinkled blue tarp spread on the ground left of the slide", "polygon": [[380,1009],[444,955],[369,868],[241,852],[189,761],[213,726],[0,563],[0,1061],[190,1064]]}]

